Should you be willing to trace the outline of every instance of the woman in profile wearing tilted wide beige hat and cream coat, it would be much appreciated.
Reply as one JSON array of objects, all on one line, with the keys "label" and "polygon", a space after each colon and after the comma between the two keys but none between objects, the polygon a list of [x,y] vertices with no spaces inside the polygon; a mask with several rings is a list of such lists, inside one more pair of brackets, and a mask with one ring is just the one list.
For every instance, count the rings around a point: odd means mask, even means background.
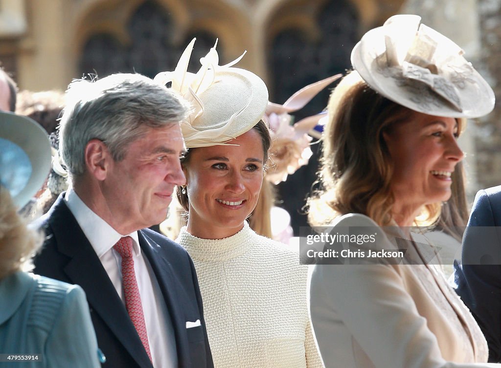
[{"label": "woman in profile wearing tilted wide beige hat and cream coat", "polygon": [[309,216],[351,237],[325,248],[332,257],[311,278],[327,367],[487,366],[475,363],[487,360],[478,325],[432,264],[437,250],[410,227],[439,215],[465,119],[491,111],[494,94],[457,45],[419,23],[394,16],[365,34],[330,98]]}]

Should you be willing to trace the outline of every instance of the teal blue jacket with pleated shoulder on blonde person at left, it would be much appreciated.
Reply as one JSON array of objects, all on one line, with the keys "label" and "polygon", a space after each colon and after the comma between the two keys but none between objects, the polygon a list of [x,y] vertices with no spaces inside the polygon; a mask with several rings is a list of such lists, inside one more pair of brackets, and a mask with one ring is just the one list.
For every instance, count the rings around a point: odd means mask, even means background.
[{"label": "teal blue jacket with pleated shoulder on blonde person at left", "polygon": [[0,353],[41,354],[0,367],[100,367],[85,293],[77,285],[16,272],[0,281]]}]

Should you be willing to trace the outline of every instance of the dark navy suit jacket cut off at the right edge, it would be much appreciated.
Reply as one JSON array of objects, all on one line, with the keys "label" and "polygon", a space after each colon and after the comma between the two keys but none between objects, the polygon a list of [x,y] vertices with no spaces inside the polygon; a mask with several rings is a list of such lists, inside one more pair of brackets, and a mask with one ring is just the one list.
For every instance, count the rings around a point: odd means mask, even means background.
[{"label": "dark navy suit jacket cut off at the right edge", "polygon": [[480,190],[463,235],[456,292],[489,345],[489,362],[501,360],[501,186]]}]

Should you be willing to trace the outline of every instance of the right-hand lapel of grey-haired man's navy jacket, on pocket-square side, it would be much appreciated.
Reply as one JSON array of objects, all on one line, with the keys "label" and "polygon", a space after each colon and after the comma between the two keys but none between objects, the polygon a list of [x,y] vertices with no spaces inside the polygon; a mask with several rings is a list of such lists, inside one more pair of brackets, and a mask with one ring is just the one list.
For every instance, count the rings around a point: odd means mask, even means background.
[{"label": "right-hand lapel of grey-haired man's navy jacket, on pocket-square side", "polygon": [[139,245],[141,251],[148,259],[153,273],[156,276],[160,290],[162,291],[167,310],[174,328],[177,359],[179,366],[188,366],[189,351],[188,340],[186,334],[185,313],[182,310],[182,303],[179,300],[185,300],[183,297],[184,291],[179,288],[181,281],[174,276],[170,262],[165,257],[165,252],[159,244],[148,237],[143,231],[139,233]]}]

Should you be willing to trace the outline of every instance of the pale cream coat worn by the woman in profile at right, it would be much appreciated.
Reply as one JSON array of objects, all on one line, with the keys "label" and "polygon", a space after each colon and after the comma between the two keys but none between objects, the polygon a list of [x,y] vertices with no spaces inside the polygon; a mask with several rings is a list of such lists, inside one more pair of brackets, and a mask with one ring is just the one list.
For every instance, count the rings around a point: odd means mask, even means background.
[{"label": "pale cream coat worn by the woman in profile at right", "polygon": [[[365,215],[344,215],[333,226],[377,232],[365,252],[397,248]],[[317,265],[310,312],[327,368],[500,366],[475,363],[487,360],[485,339],[433,265]]]}]

